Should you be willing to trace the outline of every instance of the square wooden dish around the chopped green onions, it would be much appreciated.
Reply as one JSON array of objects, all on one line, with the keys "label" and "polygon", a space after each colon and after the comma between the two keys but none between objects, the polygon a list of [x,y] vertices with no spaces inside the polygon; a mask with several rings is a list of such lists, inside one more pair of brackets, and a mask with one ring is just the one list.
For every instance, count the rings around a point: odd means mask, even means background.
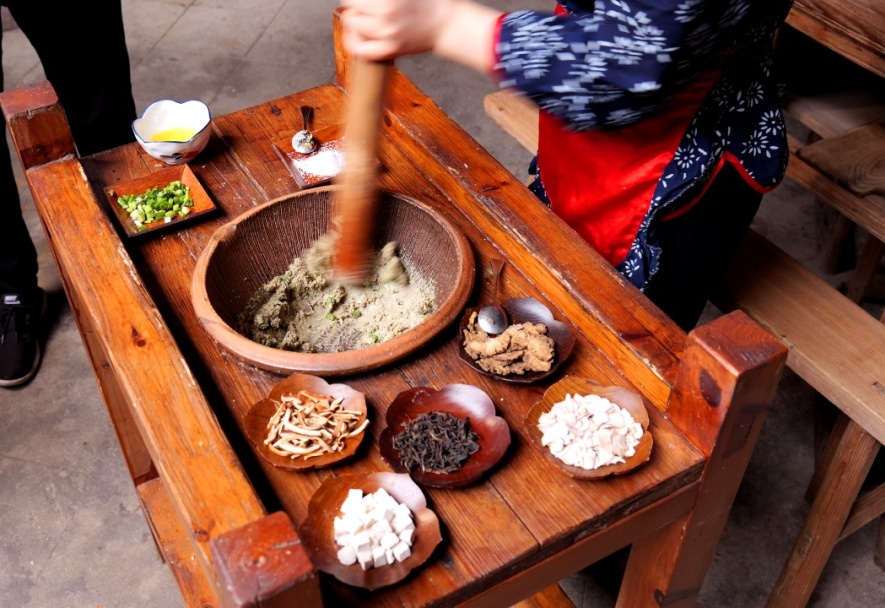
[{"label": "square wooden dish around the chopped green onions", "polygon": [[[121,207],[117,202],[117,199],[121,196],[126,196],[128,194],[144,194],[151,188],[165,188],[171,182],[176,180],[190,188],[190,195],[194,201],[194,206],[191,207],[190,213],[184,217],[176,217],[169,222],[159,221],[145,224],[145,229],[139,230],[135,222],[132,221],[132,218],[129,217],[129,213],[126,209]],[[200,184],[200,180],[197,179],[197,176],[194,175],[194,172],[187,165],[167,167],[155,173],[150,173],[133,180],[113,184],[112,186],[105,188],[104,193],[107,197],[111,212],[126,232],[126,236],[130,238],[147,236],[149,234],[156,234],[168,230],[177,230],[184,224],[192,222],[216,209],[215,203],[209,197],[209,194],[203,188],[203,185]]]}]

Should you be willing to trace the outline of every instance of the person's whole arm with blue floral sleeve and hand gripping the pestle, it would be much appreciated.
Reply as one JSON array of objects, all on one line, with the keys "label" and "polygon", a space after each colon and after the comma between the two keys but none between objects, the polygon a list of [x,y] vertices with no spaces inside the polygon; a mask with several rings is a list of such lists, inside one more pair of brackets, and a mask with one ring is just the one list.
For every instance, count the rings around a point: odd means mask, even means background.
[{"label": "person's whole arm with blue floral sleeve and hand gripping the pestle", "polygon": [[754,32],[770,32],[790,2],[568,4],[570,14],[502,17],[473,0],[342,0],[345,44],[368,59],[432,51],[493,73],[572,129],[620,127],[660,110]]}]

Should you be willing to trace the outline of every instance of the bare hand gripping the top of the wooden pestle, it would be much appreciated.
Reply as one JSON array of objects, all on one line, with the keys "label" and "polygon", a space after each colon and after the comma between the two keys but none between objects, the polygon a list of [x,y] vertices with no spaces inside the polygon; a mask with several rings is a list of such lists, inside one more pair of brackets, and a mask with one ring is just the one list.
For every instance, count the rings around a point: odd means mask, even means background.
[{"label": "bare hand gripping the top of the wooden pestle", "polygon": [[342,0],[344,44],[353,55],[392,59],[433,51],[459,0]]}]

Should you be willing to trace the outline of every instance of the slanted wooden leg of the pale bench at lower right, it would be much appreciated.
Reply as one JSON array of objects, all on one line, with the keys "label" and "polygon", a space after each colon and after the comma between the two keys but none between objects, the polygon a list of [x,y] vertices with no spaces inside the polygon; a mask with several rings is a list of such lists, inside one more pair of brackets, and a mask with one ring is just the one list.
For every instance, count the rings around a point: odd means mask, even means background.
[{"label": "slanted wooden leg of the pale bench at lower right", "polygon": [[878,442],[869,433],[854,421],[848,422],[808,517],[768,598],[769,608],[802,607],[808,603],[878,448]]}]

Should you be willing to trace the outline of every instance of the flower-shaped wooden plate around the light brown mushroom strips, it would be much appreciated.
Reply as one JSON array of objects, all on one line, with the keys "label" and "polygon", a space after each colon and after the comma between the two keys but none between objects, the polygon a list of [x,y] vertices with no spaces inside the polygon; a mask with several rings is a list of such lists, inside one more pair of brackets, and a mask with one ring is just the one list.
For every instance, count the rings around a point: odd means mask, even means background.
[{"label": "flower-shaped wooden plate around the light brown mushroom strips", "polygon": [[325,395],[333,399],[342,398],[344,400],[342,402],[344,409],[360,412],[355,427],[359,427],[366,420],[366,398],[362,393],[346,384],[329,384],[317,376],[295,373],[274,385],[268,396],[253,405],[246,413],[243,421],[246,436],[252,442],[252,445],[255,446],[256,451],[272,465],[282,469],[293,470],[328,467],[353,456],[366,436],[365,429],[353,437],[346,438],[341,451],[330,452],[307,459],[303,457],[290,458],[281,456],[267,447],[264,440],[268,436],[268,422],[276,413],[281,399],[285,396],[297,396],[301,391]]}]

